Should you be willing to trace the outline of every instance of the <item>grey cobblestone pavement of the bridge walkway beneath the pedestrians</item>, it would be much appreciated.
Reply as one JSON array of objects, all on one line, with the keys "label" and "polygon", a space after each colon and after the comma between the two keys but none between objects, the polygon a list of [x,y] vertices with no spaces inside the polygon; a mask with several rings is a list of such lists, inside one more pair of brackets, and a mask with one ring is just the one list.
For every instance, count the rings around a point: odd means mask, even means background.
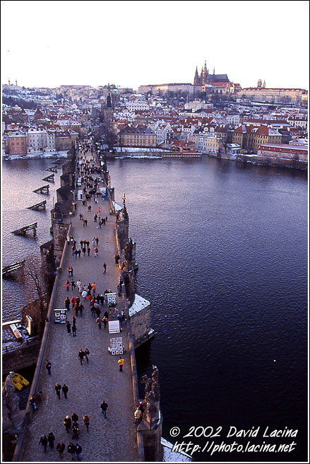
[{"label": "grey cobblestone pavement of the bridge walkway beneath the pedestrians", "polygon": [[[89,157],[89,154],[88,154]],[[64,308],[66,296],[71,298],[78,295],[78,289],[67,291],[63,286],[66,282],[69,265],[73,266],[73,279],[82,284],[95,282],[97,293],[103,294],[105,289],[117,291],[119,268],[114,262],[114,254],[117,250],[115,238],[115,216],[109,215],[109,202],[98,199],[97,205],[92,205],[92,211],[87,211],[82,207],[82,202],[78,201],[76,214],[72,217],[72,235],[77,242],[90,240],[91,253],[83,257],[74,259],[71,249],[67,247],[64,257],[64,265],[59,282],[58,294],[54,308]],[[93,220],[93,215],[97,207],[102,208],[102,216],[107,216],[108,221],[102,228],[97,228],[97,223]],[[79,219],[79,212],[82,211],[88,226],[83,227],[83,221]],[[99,238],[98,256],[95,257],[91,240],[93,237]],[[107,262],[107,274],[103,275],[103,262]],[[71,279],[69,279],[71,281]],[[83,298],[81,298],[81,301]],[[120,306],[121,298],[117,300],[117,308]],[[50,431],[56,437],[56,443],[64,441],[66,448],[72,440],[71,433],[67,434],[63,425],[66,414],[71,416],[76,412],[79,417],[80,437],[78,443],[81,444],[83,462],[137,462],[138,449],[136,444],[136,427],[133,419],[135,405],[133,402],[132,375],[129,358],[129,346],[127,341],[126,323],[123,324],[121,334],[109,335],[108,327],[100,330],[95,323],[95,319],[90,313],[88,301],[83,302],[85,310],[83,317],[76,318],[77,332],[76,337],[72,333],[68,335],[64,324],[51,323],[45,359],[52,363],[52,375],[49,376],[45,367],[42,368],[40,375],[40,388],[45,398],[38,404],[38,410],[32,422],[28,425],[23,446],[21,460],[24,462],[58,462],[61,460],[71,460],[71,455],[65,451],[64,458],[59,457],[56,449],[47,447],[44,453],[43,447],[39,446],[40,435],[49,434]],[[102,307],[101,307],[102,308]],[[106,311],[104,306],[102,311]],[[68,320],[71,323],[73,311],[68,312]],[[97,316],[96,316],[97,317]],[[109,339],[113,336],[122,336],[126,353],[124,358],[124,371],[119,371],[117,361],[119,356],[109,354],[107,347]],[[90,350],[89,364],[83,361],[81,365],[78,359],[79,349],[88,348]],[[45,361],[44,361],[45,363]],[[68,399],[61,395],[59,400],[54,390],[55,383],[68,385]],[[102,400],[108,404],[107,419],[103,417],[100,409]],[[83,424],[83,415],[90,417],[89,433]],[[77,460],[76,456],[74,457]]]}]

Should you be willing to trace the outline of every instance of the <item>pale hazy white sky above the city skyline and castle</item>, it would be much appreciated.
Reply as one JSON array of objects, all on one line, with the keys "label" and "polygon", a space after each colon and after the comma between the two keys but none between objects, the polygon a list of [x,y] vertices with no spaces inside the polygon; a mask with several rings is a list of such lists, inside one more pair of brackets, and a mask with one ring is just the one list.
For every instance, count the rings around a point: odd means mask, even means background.
[{"label": "pale hazy white sky above the city skyline and castle", "polygon": [[309,1],[1,1],[1,82],[309,88]]}]

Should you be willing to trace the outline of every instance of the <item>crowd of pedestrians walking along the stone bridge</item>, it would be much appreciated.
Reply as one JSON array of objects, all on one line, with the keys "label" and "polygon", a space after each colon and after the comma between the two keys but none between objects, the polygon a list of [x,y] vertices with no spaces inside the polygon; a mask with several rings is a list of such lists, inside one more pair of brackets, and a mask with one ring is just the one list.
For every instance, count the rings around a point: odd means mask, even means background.
[{"label": "crowd of pedestrians walking along the stone bridge", "polygon": [[[102,226],[105,226],[107,224],[108,218],[107,216],[102,216],[102,209],[100,208],[100,206],[98,206],[98,199],[102,197],[99,187],[101,180],[99,177],[100,168],[96,166],[95,158],[93,157],[93,146],[90,143],[90,141],[82,141],[79,147],[79,151],[83,154],[83,156],[78,159],[77,173],[78,177],[80,178],[79,183],[83,187],[84,198],[81,198],[81,200],[83,207],[85,207],[85,211],[79,214],[79,218],[81,221],[83,221],[83,226],[87,227],[89,221],[92,219],[93,216],[93,221],[97,223],[96,228],[101,229]],[[91,151],[92,153],[90,161],[88,161],[88,159],[86,158],[86,153],[88,151]],[[76,209],[76,204],[74,205],[74,208]],[[98,234],[100,235],[99,232]],[[91,255],[93,255],[96,258],[100,257],[100,243],[103,240],[98,236],[93,236],[92,238],[83,238],[82,240],[78,241],[74,238],[73,234],[71,234],[67,237],[67,241],[68,246],[72,251],[73,263],[75,262],[74,260],[78,260],[83,257],[90,257]],[[115,263],[118,264],[118,254],[114,255],[114,260]],[[94,265],[97,265],[97,263]],[[69,336],[71,336],[72,334],[73,337],[78,337],[77,320],[79,320],[80,318],[85,318],[85,316],[83,316],[83,313],[86,314],[87,317],[88,312],[91,316],[93,316],[94,322],[96,323],[99,330],[102,329],[102,325],[103,330],[105,330],[107,328],[109,318],[112,317],[111,310],[114,306],[108,305],[107,303],[107,294],[112,293],[112,291],[110,289],[106,289],[103,292],[98,291],[96,282],[82,283],[74,267],[75,265],[73,264],[68,266],[68,279],[66,279],[66,282],[64,283],[64,288],[66,289],[67,294],[66,298],[64,299],[64,306],[67,310],[67,315],[69,315],[72,312],[71,315],[68,316],[68,320],[65,324],[66,332]],[[103,262],[102,269],[103,274],[107,274],[107,262]],[[75,280],[75,277],[78,278]],[[117,286],[117,293],[119,296],[121,296],[122,284],[123,282],[120,277],[119,285]],[[115,315],[115,313],[113,313],[113,315]],[[119,319],[120,324],[124,324],[126,322],[124,311],[119,312],[117,318]],[[85,364],[85,361],[87,364],[89,364],[90,350],[88,349],[88,347],[85,347],[78,351],[78,360],[80,361],[81,365]],[[119,371],[123,371],[124,359],[121,356],[119,356],[119,359],[116,359],[115,362],[119,366]],[[50,361],[46,361],[46,369],[47,374],[51,376],[52,363]],[[61,398],[64,398],[64,400],[68,400],[69,388],[68,385],[66,385],[66,383],[64,383],[61,386],[61,383],[56,382],[54,390],[56,392],[56,397],[58,398],[58,400],[56,398],[57,402],[60,401]],[[61,393],[63,395],[62,397]],[[36,410],[37,405],[35,402],[35,397],[32,398],[32,408]],[[70,398],[71,397],[69,395],[69,399]],[[68,401],[68,403],[66,404],[70,404],[70,401]],[[105,419],[107,419],[107,407],[108,405],[106,400],[102,400],[102,403],[100,404],[100,409]],[[86,433],[89,433],[90,417],[88,416],[88,414],[83,415],[83,423]],[[78,443],[78,440],[80,438],[78,415],[75,412],[73,412],[71,416],[66,415],[66,417],[64,417],[63,424],[66,429],[66,433],[71,434],[71,441],[69,441],[67,445],[66,443],[64,443],[64,441],[59,441],[56,444],[56,451],[59,453],[60,458],[64,458],[64,453],[65,451],[67,451],[68,456],[71,455],[72,460],[74,459],[74,456],[76,456],[78,460],[81,460],[82,447],[81,444]],[[40,436],[39,445],[42,446],[42,448],[44,448],[44,452],[46,452],[47,445],[49,446],[49,448],[54,448],[55,441],[56,437],[54,436],[54,433],[51,431],[47,435]]]}]

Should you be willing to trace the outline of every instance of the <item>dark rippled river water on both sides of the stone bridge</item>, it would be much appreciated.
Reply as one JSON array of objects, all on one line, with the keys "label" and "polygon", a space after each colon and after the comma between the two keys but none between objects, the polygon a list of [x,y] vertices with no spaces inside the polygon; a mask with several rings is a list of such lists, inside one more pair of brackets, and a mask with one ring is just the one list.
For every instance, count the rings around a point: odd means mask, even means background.
[{"label": "dark rippled river water on both sides of the stone bridge", "polygon": [[[41,201],[32,190],[49,166],[3,163],[3,265],[50,239],[54,191],[48,211],[25,209]],[[158,366],[164,438],[200,445],[194,460],[306,460],[306,173],[206,157],[116,159],[108,167],[120,204],[126,192],[137,292],[152,303],[156,335],[137,350],[138,373]],[[11,234],[34,221],[37,239]],[[23,298],[18,284],[3,284],[8,320]],[[183,439],[190,427],[201,429]],[[212,438],[205,427],[222,428]],[[227,437],[230,427],[260,429],[242,439]],[[268,439],[266,427],[298,432]],[[212,442],[233,441],[296,446],[290,453],[207,451]]]}]

